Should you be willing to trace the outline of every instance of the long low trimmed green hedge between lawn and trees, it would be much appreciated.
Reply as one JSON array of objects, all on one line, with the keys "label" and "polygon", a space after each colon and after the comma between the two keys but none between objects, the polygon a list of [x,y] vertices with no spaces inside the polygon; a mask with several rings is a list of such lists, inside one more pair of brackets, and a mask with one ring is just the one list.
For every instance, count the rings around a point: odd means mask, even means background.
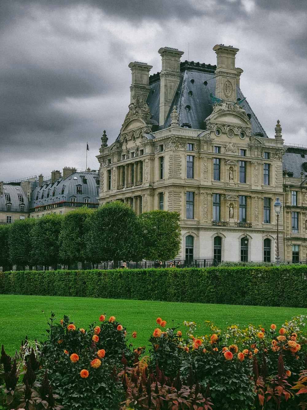
[{"label": "long low trimmed green hedge between lawn and trees", "polygon": [[0,272],[0,294],[307,307],[307,265]]}]

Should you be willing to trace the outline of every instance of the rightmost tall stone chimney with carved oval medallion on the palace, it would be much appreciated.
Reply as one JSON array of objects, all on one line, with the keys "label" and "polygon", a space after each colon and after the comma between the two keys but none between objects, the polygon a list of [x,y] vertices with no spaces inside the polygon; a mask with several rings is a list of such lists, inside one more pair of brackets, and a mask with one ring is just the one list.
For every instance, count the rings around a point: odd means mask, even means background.
[{"label": "rightmost tall stone chimney with carved oval medallion on the palace", "polygon": [[237,101],[236,84],[241,74],[235,68],[235,55],[239,48],[217,44],[213,50],[217,53],[215,96],[234,103]]}]

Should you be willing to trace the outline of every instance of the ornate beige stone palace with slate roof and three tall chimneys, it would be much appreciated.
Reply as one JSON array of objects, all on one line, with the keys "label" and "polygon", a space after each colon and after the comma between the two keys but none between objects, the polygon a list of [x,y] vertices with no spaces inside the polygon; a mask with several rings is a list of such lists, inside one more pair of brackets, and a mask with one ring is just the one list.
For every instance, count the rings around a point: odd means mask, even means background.
[{"label": "ornate beige stone palace with slate roof and three tall chimneys", "polygon": [[[298,259],[305,259],[306,179],[283,178],[287,147],[279,121],[269,138],[239,88],[239,50],[213,50],[216,66],[180,62],[183,52],[167,47],[159,50],[156,75],[149,77],[146,63],[129,64],[129,112],[110,146],[104,132],[97,156],[99,204],[122,200],[137,213],[178,211],[181,258],[270,261],[277,247],[273,204],[280,198],[280,258],[296,258],[301,248]],[[290,164],[294,151],[287,150]],[[291,205],[294,190],[299,202]]]}]

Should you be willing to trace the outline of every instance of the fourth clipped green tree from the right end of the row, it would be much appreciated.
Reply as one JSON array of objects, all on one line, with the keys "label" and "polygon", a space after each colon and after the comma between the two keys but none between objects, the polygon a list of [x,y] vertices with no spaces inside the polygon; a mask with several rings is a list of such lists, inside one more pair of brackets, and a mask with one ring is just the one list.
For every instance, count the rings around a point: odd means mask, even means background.
[{"label": "fourth clipped green tree from the right end of the row", "polygon": [[51,214],[39,218],[32,230],[32,257],[35,264],[54,266],[59,261],[59,235],[63,215]]}]

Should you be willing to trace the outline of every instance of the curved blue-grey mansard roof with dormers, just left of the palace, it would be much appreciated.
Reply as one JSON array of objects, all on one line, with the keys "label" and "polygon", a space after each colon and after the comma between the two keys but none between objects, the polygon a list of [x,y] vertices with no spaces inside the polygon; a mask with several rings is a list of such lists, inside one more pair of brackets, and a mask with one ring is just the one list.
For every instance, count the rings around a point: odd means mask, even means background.
[{"label": "curved blue-grey mansard roof with dormers, just left of the palace", "polygon": [[72,197],[75,198],[76,202],[84,202],[84,199],[88,198],[89,203],[98,204],[97,187],[99,187],[99,174],[94,171],[75,172],[65,179],[60,177],[54,182],[51,182],[50,179],[32,192],[29,204],[30,211],[42,205],[69,202]]}]

